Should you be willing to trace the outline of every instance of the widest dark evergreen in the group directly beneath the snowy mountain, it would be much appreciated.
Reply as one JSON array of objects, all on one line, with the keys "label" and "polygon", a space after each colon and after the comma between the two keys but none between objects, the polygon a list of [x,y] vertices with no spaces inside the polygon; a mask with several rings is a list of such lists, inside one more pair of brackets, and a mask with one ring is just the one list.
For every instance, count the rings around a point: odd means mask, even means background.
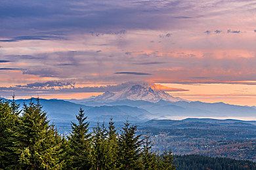
[{"label": "widest dark evergreen in the group directly beneath the snowy mountain", "polygon": [[119,169],[142,169],[141,135],[136,136],[137,126],[130,126],[129,121],[122,127],[118,137]]}]

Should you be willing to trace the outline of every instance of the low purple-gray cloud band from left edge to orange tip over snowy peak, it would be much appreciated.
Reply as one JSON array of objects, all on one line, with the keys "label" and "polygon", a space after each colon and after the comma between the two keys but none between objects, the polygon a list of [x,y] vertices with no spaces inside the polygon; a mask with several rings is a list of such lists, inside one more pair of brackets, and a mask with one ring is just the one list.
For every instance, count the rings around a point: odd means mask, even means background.
[{"label": "low purple-gray cloud band from left edge to orange tip over snowy peak", "polygon": [[0,93],[4,95],[10,95],[15,93],[18,95],[37,95],[47,93],[91,93],[91,92],[119,92],[123,88],[131,87],[140,84],[142,86],[150,86],[157,90],[163,90],[165,92],[180,92],[188,91],[182,88],[170,88],[162,86],[160,84],[152,84],[148,82],[124,82],[117,85],[106,85],[106,86],[85,86],[83,88],[75,88],[75,82],[66,80],[53,80],[48,82],[35,82],[26,85],[17,85],[11,87],[0,87]]}]

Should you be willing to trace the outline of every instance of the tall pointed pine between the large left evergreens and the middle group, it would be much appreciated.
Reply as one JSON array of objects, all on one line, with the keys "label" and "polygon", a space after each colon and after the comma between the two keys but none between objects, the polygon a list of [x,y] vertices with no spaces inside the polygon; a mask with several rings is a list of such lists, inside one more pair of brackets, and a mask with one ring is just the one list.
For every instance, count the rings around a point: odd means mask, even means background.
[{"label": "tall pointed pine between the large left evergreens and the middle group", "polygon": [[90,141],[91,133],[89,133],[89,122],[86,122],[87,116],[83,113],[83,109],[79,109],[76,116],[78,124],[71,123],[72,131],[68,137],[70,143],[70,165],[71,169],[90,169]]}]

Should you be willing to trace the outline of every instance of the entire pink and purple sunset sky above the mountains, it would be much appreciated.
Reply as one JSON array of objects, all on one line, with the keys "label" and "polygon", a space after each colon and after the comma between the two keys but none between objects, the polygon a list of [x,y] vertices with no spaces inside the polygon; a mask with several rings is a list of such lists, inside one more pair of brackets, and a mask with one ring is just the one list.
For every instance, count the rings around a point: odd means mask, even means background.
[{"label": "entire pink and purple sunset sky above the mountains", "polygon": [[1,0],[0,95],[81,99],[147,81],[256,105],[255,23],[247,0]]}]

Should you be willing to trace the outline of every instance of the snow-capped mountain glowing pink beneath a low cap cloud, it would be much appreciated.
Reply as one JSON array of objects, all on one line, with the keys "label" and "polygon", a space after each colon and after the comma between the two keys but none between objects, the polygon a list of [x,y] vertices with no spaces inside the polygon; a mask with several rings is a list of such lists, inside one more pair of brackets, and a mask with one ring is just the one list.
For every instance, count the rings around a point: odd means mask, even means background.
[{"label": "snow-capped mountain glowing pink beneath a low cap cloud", "polygon": [[[163,86],[161,86],[162,88]],[[127,84],[127,87],[123,88],[119,92],[105,92],[102,95],[89,97],[88,100],[93,100],[97,102],[106,101],[117,101],[117,100],[143,100],[150,102],[158,102],[160,100],[164,101],[185,101],[180,97],[173,97],[169,93],[165,93],[163,90],[158,90],[160,87],[156,84],[148,84],[146,82],[142,83],[131,83]]]}]

